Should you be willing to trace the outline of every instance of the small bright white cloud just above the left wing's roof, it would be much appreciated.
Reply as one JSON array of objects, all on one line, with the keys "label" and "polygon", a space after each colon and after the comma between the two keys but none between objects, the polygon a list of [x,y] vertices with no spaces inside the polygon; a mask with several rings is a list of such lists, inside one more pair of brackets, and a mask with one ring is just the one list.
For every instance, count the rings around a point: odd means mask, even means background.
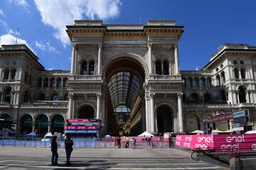
[{"label": "small bright white cloud just above the left wing's roof", "polygon": [[[5,34],[0,36],[0,45],[15,45],[16,44],[16,37],[11,34]],[[33,48],[28,45],[28,42],[26,40],[23,40],[21,38],[17,39],[17,44],[25,44],[31,51],[36,53]]]}]

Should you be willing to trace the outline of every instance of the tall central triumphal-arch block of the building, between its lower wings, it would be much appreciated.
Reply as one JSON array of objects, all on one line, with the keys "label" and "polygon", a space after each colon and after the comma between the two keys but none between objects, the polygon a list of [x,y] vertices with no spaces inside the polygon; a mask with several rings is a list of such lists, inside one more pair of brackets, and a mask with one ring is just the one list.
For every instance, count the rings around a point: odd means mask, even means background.
[{"label": "tall central triumphal-arch block of the building, between its lower wings", "polygon": [[67,28],[73,43],[68,118],[100,119],[102,132],[113,135],[183,132],[183,26],[75,21]]}]

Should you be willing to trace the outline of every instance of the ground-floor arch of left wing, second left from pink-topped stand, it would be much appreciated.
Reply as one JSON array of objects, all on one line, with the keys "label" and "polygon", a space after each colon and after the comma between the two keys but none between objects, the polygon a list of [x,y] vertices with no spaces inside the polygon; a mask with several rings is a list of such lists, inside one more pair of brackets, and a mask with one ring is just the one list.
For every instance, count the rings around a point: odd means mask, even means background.
[{"label": "ground-floor arch of left wing, second left from pink-topped stand", "polygon": [[38,115],[36,117],[36,132],[39,135],[48,132],[48,118],[46,115]]}]

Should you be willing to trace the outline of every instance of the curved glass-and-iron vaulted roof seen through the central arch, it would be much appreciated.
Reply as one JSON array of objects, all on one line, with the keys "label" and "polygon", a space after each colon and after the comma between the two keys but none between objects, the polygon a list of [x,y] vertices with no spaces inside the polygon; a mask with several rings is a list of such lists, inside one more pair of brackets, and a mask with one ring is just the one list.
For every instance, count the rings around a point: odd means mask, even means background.
[{"label": "curved glass-and-iron vaulted roof seen through the central arch", "polygon": [[131,110],[141,86],[139,78],[130,72],[118,72],[107,85],[113,108],[127,106]]}]

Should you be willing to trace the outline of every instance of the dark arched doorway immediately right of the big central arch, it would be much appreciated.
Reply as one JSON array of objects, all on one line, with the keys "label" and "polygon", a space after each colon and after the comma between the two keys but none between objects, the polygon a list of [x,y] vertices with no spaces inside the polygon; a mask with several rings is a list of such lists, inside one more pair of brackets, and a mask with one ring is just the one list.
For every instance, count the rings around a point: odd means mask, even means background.
[{"label": "dark arched doorway immediately right of the big central arch", "polygon": [[156,110],[157,130],[159,133],[173,131],[173,116],[169,106],[162,105]]}]

